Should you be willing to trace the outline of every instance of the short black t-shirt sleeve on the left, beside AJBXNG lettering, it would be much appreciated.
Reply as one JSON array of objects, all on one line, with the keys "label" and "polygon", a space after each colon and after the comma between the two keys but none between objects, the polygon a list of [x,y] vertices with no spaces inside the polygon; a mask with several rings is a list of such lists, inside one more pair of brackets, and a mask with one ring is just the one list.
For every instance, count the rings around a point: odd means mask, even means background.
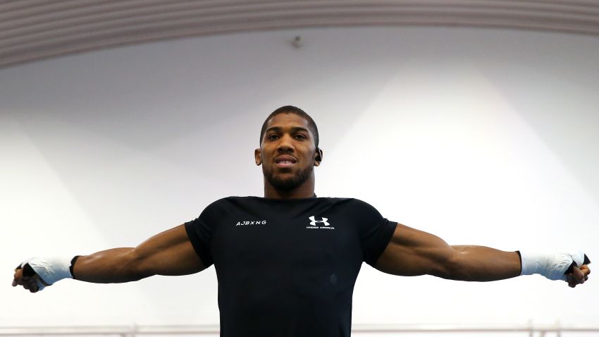
[{"label": "short black t-shirt sleeve on the left, beside AJBXNG lettering", "polygon": [[[218,201],[217,201],[218,202]],[[208,267],[214,263],[210,245],[214,228],[217,225],[216,203],[213,202],[199,214],[197,219],[185,223],[185,231],[190,238],[195,252],[202,259],[204,266]]]}]

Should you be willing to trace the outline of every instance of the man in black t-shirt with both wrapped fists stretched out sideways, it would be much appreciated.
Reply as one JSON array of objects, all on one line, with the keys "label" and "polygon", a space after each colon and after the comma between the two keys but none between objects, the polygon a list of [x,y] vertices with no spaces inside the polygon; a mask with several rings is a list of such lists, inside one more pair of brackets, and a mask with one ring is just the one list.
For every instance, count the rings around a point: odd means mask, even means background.
[{"label": "man in black t-shirt with both wrapped fists stretched out sideways", "polygon": [[264,197],[218,200],[194,221],[137,247],[27,260],[16,269],[13,286],[35,293],[62,278],[120,283],[193,274],[214,264],[221,336],[350,336],[362,262],[389,274],[464,281],[541,274],[571,287],[590,274],[582,252],[450,246],[384,219],[362,201],[316,197],[319,133],[294,106],[266,118],[254,157],[264,173]]}]

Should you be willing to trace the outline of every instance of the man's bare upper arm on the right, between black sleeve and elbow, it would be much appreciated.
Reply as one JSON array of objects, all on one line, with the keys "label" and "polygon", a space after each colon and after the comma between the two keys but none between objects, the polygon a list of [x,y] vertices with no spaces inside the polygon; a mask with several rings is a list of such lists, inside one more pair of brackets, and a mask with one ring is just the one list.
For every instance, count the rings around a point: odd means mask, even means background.
[{"label": "man's bare upper arm on the right, between black sleeve and elbow", "polygon": [[436,235],[397,223],[395,232],[376,262],[376,269],[400,276],[445,277],[457,252]]}]

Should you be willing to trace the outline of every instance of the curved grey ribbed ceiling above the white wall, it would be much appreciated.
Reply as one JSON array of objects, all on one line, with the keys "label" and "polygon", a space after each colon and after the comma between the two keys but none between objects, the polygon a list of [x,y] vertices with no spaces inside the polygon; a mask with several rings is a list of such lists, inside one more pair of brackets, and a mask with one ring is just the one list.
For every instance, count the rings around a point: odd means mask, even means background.
[{"label": "curved grey ribbed ceiling above the white wall", "polygon": [[0,0],[0,67],[161,39],[354,25],[599,35],[599,1]]}]

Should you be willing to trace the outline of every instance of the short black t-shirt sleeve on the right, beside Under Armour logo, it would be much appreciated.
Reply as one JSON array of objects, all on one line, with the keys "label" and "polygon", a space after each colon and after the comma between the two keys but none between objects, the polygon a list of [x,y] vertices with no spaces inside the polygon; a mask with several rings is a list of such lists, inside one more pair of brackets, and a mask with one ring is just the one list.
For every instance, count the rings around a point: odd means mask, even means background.
[{"label": "short black t-shirt sleeve on the right, beside Under Armour logo", "polygon": [[364,262],[374,266],[378,257],[389,244],[397,223],[383,218],[381,213],[370,204],[360,200],[356,201],[358,204],[354,209],[357,211],[355,216],[360,226]]}]

